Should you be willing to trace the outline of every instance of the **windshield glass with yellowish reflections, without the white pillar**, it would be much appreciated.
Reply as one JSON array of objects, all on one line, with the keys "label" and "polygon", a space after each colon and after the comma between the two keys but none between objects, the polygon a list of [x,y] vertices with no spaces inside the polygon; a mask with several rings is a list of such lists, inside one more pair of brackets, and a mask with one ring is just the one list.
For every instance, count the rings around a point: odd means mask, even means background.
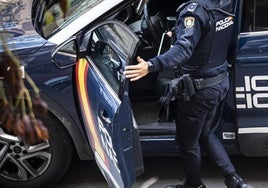
[{"label": "windshield glass with yellowish reflections, without the white pillar", "polygon": [[43,35],[46,37],[63,28],[102,1],[104,0],[61,0],[41,5],[42,10],[46,10],[42,19]]}]

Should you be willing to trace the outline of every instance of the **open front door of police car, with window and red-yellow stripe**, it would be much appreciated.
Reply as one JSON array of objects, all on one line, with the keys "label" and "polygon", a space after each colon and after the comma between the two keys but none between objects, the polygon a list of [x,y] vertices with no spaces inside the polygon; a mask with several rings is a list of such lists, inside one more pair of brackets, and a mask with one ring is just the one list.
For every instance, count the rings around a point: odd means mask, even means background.
[{"label": "open front door of police car, with window and red-yellow stripe", "polygon": [[[128,96],[129,81],[123,71],[134,61],[139,40],[118,21],[99,24],[83,38],[86,50],[80,53],[74,71],[81,119],[95,160],[109,186],[130,187],[143,172],[143,160]],[[62,44],[53,57],[66,56],[78,49],[74,44],[74,40]],[[85,55],[81,57],[81,54]]]}]

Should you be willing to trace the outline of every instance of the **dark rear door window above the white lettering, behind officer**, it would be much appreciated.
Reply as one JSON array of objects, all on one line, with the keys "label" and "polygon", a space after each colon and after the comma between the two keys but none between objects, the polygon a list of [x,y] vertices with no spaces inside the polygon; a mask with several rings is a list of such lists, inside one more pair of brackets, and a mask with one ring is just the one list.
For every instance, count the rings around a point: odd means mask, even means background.
[{"label": "dark rear door window above the white lettering, behind officer", "polygon": [[244,1],[242,32],[268,31],[268,1]]}]

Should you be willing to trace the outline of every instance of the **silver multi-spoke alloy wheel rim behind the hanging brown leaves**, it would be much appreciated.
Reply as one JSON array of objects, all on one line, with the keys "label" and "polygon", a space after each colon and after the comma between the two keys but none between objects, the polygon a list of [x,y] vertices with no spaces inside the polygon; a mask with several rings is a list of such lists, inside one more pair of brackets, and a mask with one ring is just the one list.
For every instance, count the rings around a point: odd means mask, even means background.
[{"label": "silver multi-spoke alloy wheel rim behind the hanging brown leaves", "polygon": [[29,146],[0,128],[0,177],[12,181],[35,179],[47,170],[51,156],[48,141]]}]

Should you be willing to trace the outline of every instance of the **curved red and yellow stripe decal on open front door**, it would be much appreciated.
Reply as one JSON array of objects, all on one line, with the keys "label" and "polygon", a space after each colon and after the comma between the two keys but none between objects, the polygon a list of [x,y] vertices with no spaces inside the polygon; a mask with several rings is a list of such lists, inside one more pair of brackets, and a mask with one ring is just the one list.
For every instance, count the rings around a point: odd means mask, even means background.
[{"label": "curved red and yellow stripe decal on open front door", "polygon": [[88,74],[89,64],[86,59],[82,58],[78,60],[76,64],[76,86],[77,93],[80,102],[80,108],[84,124],[86,125],[87,130],[90,133],[91,147],[93,150],[99,154],[104,163],[109,166],[109,162],[106,158],[105,152],[101,146],[100,138],[98,137],[97,127],[94,123],[93,113],[90,108],[90,101],[88,97],[87,90],[87,74]]}]

